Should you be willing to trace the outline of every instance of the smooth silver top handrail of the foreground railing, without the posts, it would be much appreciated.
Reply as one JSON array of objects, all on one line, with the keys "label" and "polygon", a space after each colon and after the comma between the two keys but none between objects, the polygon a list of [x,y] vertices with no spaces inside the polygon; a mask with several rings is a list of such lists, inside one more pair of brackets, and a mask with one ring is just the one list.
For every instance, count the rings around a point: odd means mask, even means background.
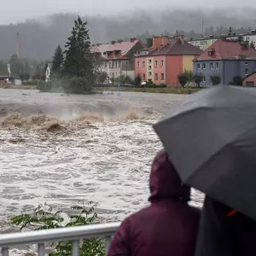
[{"label": "smooth silver top handrail of the foreground railing, without the posts", "polygon": [[88,224],[69,228],[35,230],[0,235],[0,247],[19,244],[44,243],[47,241],[76,241],[92,236],[113,236],[120,223]]}]

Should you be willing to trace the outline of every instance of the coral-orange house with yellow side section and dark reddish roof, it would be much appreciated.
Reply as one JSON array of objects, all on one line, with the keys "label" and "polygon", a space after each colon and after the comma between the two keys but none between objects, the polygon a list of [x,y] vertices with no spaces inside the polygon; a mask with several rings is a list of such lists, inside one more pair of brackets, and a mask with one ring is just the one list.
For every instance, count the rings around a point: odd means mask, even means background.
[{"label": "coral-orange house with yellow side section and dark reddish roof", "polygon": [[135,55],[135,76],[154,84],[177,85],[177,75],[185,69],[193,71],[193,59],[201,53],[183,36],[154,37],[152,48],[138,50]]}]

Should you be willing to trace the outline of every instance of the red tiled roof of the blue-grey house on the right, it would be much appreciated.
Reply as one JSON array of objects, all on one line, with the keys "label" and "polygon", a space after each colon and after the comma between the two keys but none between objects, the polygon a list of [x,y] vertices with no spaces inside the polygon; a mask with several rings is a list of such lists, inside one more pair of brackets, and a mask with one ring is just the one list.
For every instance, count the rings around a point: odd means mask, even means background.
[{"label": "red tiled roof of the blue-grey house on the right", "polygon": [[[214,53],[209,56],[208,51],[211,49],[214,49]],[[195,61],[239,60],[241,56],[245,59],[256,59],[256,51],[250,46],[244,47],[238,41],[218,39]]]}]

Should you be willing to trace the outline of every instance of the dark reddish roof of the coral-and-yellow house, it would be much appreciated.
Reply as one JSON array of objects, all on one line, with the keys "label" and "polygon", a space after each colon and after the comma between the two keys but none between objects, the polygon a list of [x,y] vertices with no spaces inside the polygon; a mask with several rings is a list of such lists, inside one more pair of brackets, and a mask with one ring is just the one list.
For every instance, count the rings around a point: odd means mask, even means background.
[{"label": "dark reddish roof of the coral-and-yellow house", "polygon": [[201,49],[185,40],[182,43],[179,38],[173,38],[160,49],[155,49],[151,55],[201,55],[202,52]]}]

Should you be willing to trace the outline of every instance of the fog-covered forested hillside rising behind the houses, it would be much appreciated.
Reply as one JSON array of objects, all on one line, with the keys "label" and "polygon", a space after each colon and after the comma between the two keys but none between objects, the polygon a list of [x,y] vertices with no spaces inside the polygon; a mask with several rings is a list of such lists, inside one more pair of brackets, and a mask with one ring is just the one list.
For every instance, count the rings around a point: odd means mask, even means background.
[{"label": "fog-covered forested hillside rising behind the houses", "polygon": [[[161,12],[137,10],[131,15],[87,15],[92,43],[108,43],[114,39],[137,37],[145,39],[153,34],[172,34],[176,30],[187,37],[200,37],[202,19],[204,32],[221,34],[232,26],[236,32],[247,32],[256,27],[253,9],[166,9]],[[20,55],[47,59],[57,44],[67,41],[76,14],[56,14],[0,26],[0,59],[15,53],[16,33],[20,33]],[[236,28],[236,29],[235,29]]]}]

